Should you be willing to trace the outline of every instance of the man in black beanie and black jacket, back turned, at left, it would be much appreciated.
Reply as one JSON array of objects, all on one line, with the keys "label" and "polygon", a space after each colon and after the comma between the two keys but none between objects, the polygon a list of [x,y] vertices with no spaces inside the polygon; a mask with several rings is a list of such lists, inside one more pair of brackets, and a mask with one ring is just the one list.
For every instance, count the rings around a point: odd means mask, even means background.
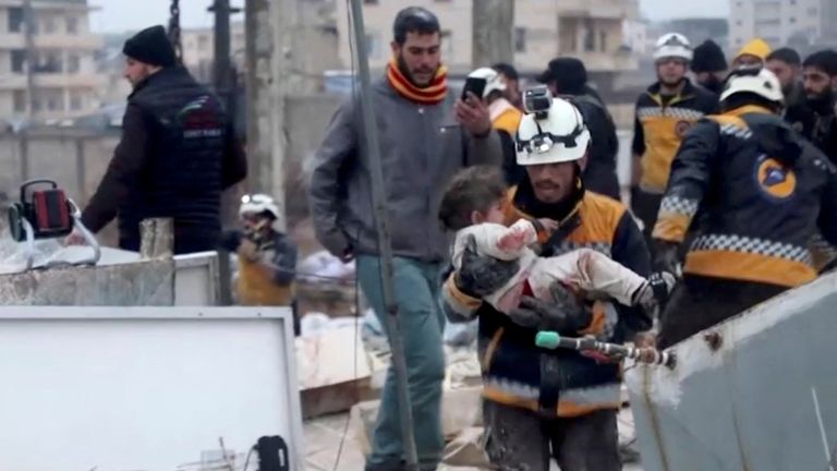
[{"label": "man in black beanie and black jacket, back turned, at left", "polygon": [[98,232],[118,217],[119,246],[138,251],[143,219],[172,218],[175,254],[214,250],[221,193],[246,176],[243,148],[217,97],[177,64],[162,26],[137,33],[123,52],[134,90],[122,138],[82,221]]}]

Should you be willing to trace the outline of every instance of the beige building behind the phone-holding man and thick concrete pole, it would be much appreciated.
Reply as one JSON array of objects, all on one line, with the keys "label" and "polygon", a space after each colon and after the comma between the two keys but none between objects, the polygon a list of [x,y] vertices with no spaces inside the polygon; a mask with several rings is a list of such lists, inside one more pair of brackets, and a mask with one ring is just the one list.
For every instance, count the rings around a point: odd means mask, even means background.
[{"label": "beige building behind the phone-holding man and thick concrete pole", "polygon": [[[471,9],[474,0],[365,0],[364,22],[369,65],[383,69],[390,58],[392,21],[399,10],[424,7],[436,13],[442,28],[442,60],[454,73],[472,69]],[[478,0],[476,0],[478,1]],[[337,2],[339,56],[351,68],[344,21],[345,2]],[[514,64],[523,73],[542,71],[549,59],[574,56],[591,72],[617,72],[636,68],[636,59],[623,47],[623,23],[639,16],[638,0],[515,0]]]}]

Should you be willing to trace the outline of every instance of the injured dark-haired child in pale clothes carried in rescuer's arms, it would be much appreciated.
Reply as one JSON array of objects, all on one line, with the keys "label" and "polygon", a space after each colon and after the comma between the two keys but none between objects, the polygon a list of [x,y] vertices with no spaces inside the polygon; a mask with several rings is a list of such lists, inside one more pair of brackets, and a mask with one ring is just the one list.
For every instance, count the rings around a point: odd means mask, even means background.
[{"label": "injured dark-haired child in pale clothes carried in rescuer's arms", "polygon": [[[451,257],[454,269],[459,269],[469,246],[478,255],[519,261],[517,274],[500,289],[484,295],[483,301],[510,314],[524,295],[550,301],[550,288],[559,281],[584,299],[614,299],[623,305],[640,305],[646,312],[656,310],[660,287],[655,289],[647,279],[602,253],[579,249],[558,256],[538,256],[531,246],[536,245],[538,235],[556,230],[558,224],[518,219],[505,226],[505,184],[495,173],[478,167],[460,172],[442,197],[439,212],[446,229],[457,231]],[[669,277],[662,287],[666,291],[663,295],[672,286],[674,277]]]}]

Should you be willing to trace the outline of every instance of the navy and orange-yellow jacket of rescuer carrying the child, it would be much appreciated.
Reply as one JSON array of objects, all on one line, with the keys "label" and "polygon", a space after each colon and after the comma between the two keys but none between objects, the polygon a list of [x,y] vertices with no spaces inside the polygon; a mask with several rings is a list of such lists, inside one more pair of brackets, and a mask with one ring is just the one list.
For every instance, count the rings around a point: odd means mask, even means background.
[{"label": "navy and orange-yellow jacket of rescuer carrying the child", "polygon": [[[579,185],[569,200],[545,204],[529,180],[508,194],[509,222],[520,217],[549,218],[561,227],[543,243],[542,255],[592,249],[640,275],[651,273],[645,242],[627,208]],[[548,416],[580,416],[621,404],[619,365],[603,364],[572,350],[535,346],[536,328],[514,324],[489,303],[457,287],[456,271],[442,287],[442,307],[451,322],[480,319],[477,347],[483,369],[483,397]],[[604,341],[624,341],[626,330],[645,331],[652,319],[639,306],[596,301],[592,322],[580,331]],[[545,374],[546,366],[555,367]]]}]

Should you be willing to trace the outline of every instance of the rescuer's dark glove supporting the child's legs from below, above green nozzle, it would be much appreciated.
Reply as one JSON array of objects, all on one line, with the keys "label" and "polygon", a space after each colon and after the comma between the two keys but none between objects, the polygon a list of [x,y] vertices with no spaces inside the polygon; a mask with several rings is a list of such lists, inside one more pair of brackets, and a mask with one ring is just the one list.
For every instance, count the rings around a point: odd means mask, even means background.
[{"label": "rescuer's dark glove supporting the child's legs from below, above green nozzle", "polygon": [[520,306],[509,313],[514,324],[538,330],[577,334],[593,321],[593,313],[560,282],[549,287],[551,302],[523,297]]}]

